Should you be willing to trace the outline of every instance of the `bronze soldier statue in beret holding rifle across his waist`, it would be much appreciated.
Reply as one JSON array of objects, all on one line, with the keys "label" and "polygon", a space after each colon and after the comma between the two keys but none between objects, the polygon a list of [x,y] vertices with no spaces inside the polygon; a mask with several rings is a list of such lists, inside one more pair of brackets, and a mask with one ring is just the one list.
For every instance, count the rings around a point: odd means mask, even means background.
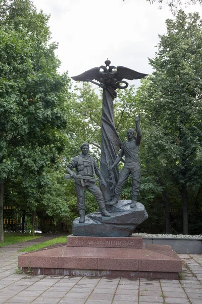
[{"label": "bronze soldier statue in beret holding rifle across his waist", "polygon": [[[71,178],[74,178],[75,182],[75,191],[77,195],[77,208],[79,211],[80,223],[85,222],[85,190],[88,189],[90,193],[95,196],[97,204],[99,206],[100,212],[103,216],[111,216],[110,213],[106,210],[105,200],[102,192],[95,184],[96,175],[99,177],[103,186],[106,186],[107,183],[101,174],[95,159],[88,154],[89,152],[89,143],[84,142],[81,146],[81,154],[74,157],[72,161],[67,166],[67,173],[70,174]],[[72,170],[76,169],[76,173]],[[94,178],[93,178],[94,174]]]}]

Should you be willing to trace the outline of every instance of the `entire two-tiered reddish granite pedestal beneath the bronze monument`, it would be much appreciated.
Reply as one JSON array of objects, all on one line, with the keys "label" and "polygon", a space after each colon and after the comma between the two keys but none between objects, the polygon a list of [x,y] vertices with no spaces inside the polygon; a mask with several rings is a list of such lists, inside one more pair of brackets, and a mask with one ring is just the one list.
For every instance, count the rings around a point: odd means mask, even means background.
[{"label": "entire two-tiered reddish granite pedestal beneath the bronze monument", "polygon": [[68,236],[67,245],[20,255],[24,273],[68,276],[177,279],[182,262],[170,246],[141,237]]}]

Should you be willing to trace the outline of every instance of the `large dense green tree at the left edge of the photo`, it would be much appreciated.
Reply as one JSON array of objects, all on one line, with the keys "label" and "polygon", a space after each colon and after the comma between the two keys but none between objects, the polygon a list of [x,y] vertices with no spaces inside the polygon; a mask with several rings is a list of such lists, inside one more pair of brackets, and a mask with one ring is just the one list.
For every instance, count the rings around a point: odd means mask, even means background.
[{"label": "large dense green tree at the left edge of the photo", "polygon": [[49,17],[29,0],[0,6],[0,240],[7,181],[22,177],[28,206],[36,210],[48,183],[46,166],[57,163],[66,144],[70,80],[57,72],[58,44],[48,44]]}]

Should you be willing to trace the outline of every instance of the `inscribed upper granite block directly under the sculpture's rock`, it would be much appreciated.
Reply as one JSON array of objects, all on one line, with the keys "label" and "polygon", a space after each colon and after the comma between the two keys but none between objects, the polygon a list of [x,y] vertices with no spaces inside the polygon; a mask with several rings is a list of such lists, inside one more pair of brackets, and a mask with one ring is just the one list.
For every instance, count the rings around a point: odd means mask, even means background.
[{"label": "inscribed upper granite block directly under the sculpture's rock", "polygon": [[142,248],[142,237],[67,237],[67,247]]}]

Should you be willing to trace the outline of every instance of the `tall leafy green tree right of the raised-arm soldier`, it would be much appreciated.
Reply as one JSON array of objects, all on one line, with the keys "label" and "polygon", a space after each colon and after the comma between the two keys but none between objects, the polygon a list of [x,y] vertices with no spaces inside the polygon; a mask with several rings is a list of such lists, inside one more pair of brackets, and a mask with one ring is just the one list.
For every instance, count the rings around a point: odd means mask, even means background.
[{"label": "tall leafy green tree right of the raised-arm soldier", "polygon": [[139,89],[137,100],[150,124],[147,153],[163,184],[178,188],[183,234],[188,234],[188,191],[202,183],[202,22],[199,14],[179,11],[168,19],[155,71]]}]

